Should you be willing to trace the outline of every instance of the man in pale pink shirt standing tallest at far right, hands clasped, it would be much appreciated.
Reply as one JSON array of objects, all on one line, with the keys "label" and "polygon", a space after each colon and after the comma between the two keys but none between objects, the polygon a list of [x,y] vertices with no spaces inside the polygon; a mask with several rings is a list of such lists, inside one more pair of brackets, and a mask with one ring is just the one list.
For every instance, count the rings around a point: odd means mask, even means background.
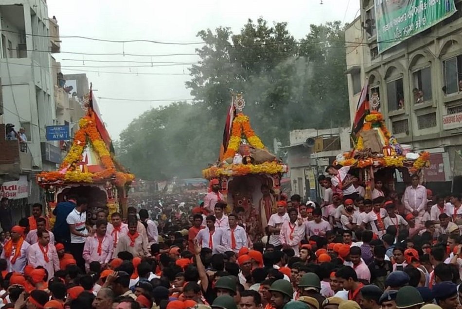
[{"label": "man in pale pink shirt standing tallest at far right, hands clasped", "polygon": [[420,223],[426,207],[426,188],[420,185],[419,175],[412,175],[412,185],[404,191],[403,201],[408,213],[412,213],[415,221]]}]

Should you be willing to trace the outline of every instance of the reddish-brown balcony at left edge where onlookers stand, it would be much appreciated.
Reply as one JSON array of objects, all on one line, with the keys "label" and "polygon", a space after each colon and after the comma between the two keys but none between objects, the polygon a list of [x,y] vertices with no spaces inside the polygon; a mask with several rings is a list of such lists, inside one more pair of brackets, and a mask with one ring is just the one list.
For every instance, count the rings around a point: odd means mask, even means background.
[{"label": "reddish-brown balcony at left edge where onlookers stand", "polygon": [[0,175],[6,174],[6,178],[17,180],[21,172],[32,169],[32,155],[29,152],[27,143],[19,142],[17,139],[6,140],[5,136],[5,124],[1,123]]}]

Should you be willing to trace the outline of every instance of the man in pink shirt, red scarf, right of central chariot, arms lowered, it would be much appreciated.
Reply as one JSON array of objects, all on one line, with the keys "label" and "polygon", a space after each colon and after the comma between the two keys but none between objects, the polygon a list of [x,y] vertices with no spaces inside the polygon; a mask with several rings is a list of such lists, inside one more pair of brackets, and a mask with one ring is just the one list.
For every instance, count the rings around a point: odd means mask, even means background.
[{"label": "man in pink shirt, red scarf, right of central chariot, arms lowered", "polygon": [[298,219],[297,208],[289,208],[289,221],[285,221],[279,232],[279,240],[283,249],[293,249],[295,256],[299,254],[300,241],[305,236],[305,226],[302,219]]}]

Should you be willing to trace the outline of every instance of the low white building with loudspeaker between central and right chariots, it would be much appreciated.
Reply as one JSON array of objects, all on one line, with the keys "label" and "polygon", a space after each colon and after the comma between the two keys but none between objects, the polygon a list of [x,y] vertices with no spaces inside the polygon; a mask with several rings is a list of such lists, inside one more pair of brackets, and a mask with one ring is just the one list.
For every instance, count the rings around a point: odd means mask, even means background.
[{"label": "low white building with loudspeaker between central and right chariots", "polygon": [[335,157],[351,149],[350,128],[303,129],[289,132],[289,146],[280,147],[287,151],[290,168],[291,194],[316,200],[320,196],[318,175]]}]

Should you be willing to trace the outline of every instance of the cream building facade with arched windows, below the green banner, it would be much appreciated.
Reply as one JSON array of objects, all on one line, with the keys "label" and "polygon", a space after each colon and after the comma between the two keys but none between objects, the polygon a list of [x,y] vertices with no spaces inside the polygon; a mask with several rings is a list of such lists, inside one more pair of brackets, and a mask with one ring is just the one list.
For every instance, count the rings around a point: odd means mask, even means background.
[{"label": "cream building facade with arched windows, below the green banner", "polygon": [[445,190],[453,175],[454,190],[461,188],[462,176],[462,0],[454,2],[453,15],[380,53],[374,0],[360,1],[345,32],[351,120],[367,78],[391,133],[431,153],[424,180]]}]

